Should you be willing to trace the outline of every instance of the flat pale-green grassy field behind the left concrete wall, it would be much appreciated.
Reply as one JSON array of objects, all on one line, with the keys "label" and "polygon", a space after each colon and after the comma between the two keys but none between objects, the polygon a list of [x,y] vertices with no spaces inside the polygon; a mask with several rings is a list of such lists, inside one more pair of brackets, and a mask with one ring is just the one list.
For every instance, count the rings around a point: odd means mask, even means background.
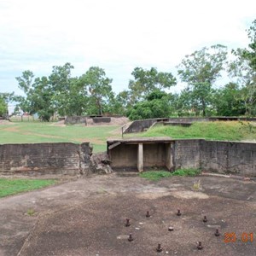
[{"label": "flat pale-green grassy field behind the left concrete wall", "polygon": [[0,144],[4,143],[82,143],[90,142],[94,152],[106,150],[108,137],[119,136],[119,126],[60,126],[55,123],[17,122],[0,125]]}]

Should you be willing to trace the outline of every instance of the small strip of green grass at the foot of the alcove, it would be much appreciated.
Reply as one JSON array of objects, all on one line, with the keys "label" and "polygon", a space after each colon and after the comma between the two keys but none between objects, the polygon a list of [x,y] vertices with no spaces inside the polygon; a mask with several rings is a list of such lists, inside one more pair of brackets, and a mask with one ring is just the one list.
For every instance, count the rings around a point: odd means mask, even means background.
[{"label": "small strip of green grass at the foot of the alcove", "polygon": [[150,172],[141,172],[139,177],[144,177],[148,180],[158,181],[164,177],[172,176],[196,176],[200,174],[198,169],[180,169],[175,172],[166,172],[166,171],[150,171]]}]

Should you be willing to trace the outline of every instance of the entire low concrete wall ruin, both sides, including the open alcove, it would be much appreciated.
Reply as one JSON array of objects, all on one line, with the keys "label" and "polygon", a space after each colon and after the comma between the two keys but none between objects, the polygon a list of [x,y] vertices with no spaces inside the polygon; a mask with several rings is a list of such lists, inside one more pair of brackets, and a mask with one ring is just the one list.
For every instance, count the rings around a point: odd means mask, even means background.
[{"label": "entire low concrete wall ruin, both sides, including the open alcove", "polygon": [[108,154],[92,154],[90,143],[0,145],[0,175],[88,175],[113,170],[142,172],[200,168],[256,177],[256,143],[139,137],[111,139]]}]

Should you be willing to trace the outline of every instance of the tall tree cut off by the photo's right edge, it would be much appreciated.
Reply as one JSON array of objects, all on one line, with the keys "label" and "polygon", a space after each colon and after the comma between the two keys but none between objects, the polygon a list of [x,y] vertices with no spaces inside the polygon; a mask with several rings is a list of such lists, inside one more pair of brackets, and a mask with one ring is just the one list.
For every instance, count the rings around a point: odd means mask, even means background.
[{"label": "tall tree cut off by the photo's right edge", "polygon": [[256,114],[256,20],[247,30],[250,40],[247,49],[233,49],[236,60],[230,63],[230,74],[241,84],[241,96],[248,115]]}]

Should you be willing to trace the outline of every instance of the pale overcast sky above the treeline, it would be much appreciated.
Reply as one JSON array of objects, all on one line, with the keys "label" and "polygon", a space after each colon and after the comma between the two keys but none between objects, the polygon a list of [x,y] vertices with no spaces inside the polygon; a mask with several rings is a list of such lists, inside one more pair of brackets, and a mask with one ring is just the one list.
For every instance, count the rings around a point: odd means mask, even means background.
[{"label": "pale overcast sky above the treeline", "polygon": [[0,92],[66,62],[73,76],[102,67],[119,92],[134,67],[175,73],[203,46],[247,47],[254,19],[255,0],[0,0]]}]

